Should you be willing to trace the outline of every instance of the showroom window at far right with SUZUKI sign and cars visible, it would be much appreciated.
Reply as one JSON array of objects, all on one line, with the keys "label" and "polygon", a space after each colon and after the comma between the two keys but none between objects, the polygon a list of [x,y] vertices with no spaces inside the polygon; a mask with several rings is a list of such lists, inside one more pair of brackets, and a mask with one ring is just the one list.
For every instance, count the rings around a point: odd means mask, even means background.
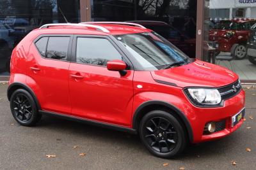
[{"label": "showroom window at far right with SUZUKI sign and cars visible", "polygon": [[256,1],[204,0],[203,59],[256,80]]}]

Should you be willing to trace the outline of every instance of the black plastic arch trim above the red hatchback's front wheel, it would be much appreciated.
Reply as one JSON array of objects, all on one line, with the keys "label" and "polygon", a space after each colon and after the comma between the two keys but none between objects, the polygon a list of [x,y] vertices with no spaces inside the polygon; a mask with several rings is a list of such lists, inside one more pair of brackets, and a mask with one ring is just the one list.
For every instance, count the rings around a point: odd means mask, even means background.
[{"label": "black plastic arch trim above the red hatchback's front wheel", "polygon": [[136,111],[134,112],[134,115],[132,117],[132,128],[138,129],[138,118],[140,117],[140,114],[142,114],[141,110],[143,110],[143,108],[145,108],[147,106],[155,105],[155,104],[170,108],[170,110],[173,110],[173,111],[175,111],[175,113],[177,113],[177,115],[181,118],[182,122],[184,123],[186,130],[188,131],[189,141],[192,143],[193,142],[193,131],[192,131],[191,124],[189,123],[188,118],[182,111],[179,110],[179,108],[177,108],[176,106],[173,106],[173,104],[167,103],[166,101],[145,101],[144,103],[140,104],[140,106],[138,106],[138,108],[136,109]]}]

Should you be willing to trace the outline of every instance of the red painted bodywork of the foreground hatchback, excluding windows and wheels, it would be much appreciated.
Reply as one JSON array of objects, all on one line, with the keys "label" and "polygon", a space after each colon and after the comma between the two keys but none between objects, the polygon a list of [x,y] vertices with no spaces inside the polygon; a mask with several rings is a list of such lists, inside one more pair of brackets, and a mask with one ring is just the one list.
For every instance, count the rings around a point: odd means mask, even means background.
[{"label": "red painted bodywork of the foreground hatchback, excluding windows and wheels", "polygon": [[[110,30],[109,34],[150,31],[124,25],[102,26]],[[56,32],[109,36],[105,32],[90,29],[52,27],[30,32],[17,45],[12,54],[9,84],[19,82],[27,85],[44,111],[132,129],[132,120],[141,104],[163,101],[184,114],[193,132],[193,143],[221,138],[243,123],[242,120],[231,127],[231,117],[244,108],[243,89],[217,108],[198,108],[184,93],[184,87],[221,87],[236,81],[238,76],[224,67],[196,60],[185,66],[159,71],[127,70],[127,74],[121,76],[118,71],[109,71],[102,66],[41,57],[33,41],[41,34]],[[158,83],[156,80],[174,85]],[[223,119],[227,122],[226,129],[203,134],[207,122]]]}]

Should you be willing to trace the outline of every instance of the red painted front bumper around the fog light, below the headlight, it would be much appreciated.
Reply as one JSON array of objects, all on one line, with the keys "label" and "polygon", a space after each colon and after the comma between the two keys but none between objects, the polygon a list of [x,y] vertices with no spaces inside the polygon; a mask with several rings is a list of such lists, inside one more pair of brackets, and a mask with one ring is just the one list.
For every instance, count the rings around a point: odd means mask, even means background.
[{"label": "red painted front bumper around the fog light, below the headlight", "polygon": [[[187,113],[187,115],[189,115],[189,122],[193,131],[193,143],[223,138],[236,131],[243,124],[243,118],[232,127],[232,117],[244,108],[244,103],[245,96],[243,89],[236,96],[224,101],[222,107],[198,108],[190,103],[191,109],[189,111],[193,111],[193,113]],[[225,121],[225,128],[218,132],[204,134],[205,124],[220,121]]]}]

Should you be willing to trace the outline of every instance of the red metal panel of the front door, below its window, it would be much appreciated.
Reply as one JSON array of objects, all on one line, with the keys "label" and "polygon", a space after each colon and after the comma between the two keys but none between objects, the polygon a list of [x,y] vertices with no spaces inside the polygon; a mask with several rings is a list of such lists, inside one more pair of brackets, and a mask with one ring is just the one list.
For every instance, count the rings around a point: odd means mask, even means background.
[{"label": "red metal panel of the front door, below its window", "polygon": [[[71,63],[68,79],[72,115],[131,127],[133,73],[127,71],[120,77],[118,71],[106,67]],[[72,74],[83,78],[73,78]]]}]

